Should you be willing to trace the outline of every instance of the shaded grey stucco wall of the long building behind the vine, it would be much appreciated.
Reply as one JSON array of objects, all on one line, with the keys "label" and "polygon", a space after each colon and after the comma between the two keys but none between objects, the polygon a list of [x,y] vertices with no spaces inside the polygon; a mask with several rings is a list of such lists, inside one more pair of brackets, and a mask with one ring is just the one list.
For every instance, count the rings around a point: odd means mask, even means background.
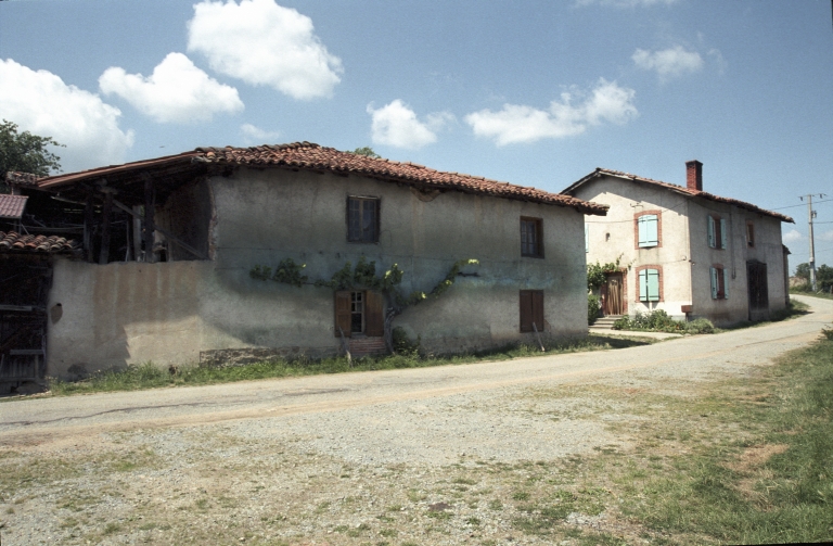
[{"label": "shaded grey stucco wall of the long building behind the vine", "polygon": [[[64,316],[49,332],[51,374],[74,364],[87,371],[183,364],[219,348],[336,353],[330,289],[249,277],[254,265],[274,267],[285,257],[306,263],[310,279],[329,279],[362,255],[377,271],[397,263],[405,293],[431,290],[458,259],[479,259],[466,268],[476,277],[458,277],[440,299],[395,320],[426,351],[531,342],[520,333],[523,289],[544,291],[546,335],[587,332],[584,217],[573,208],[459,192],[431,199],[395,183],[309,172],[244,168],[207,183],[214,261],[56,264],[50,305],[61,302]],[[379,243],[347,242],[348,195],[381,200]],[[543,258],[521,256],[521,216],[542,218]]]}]

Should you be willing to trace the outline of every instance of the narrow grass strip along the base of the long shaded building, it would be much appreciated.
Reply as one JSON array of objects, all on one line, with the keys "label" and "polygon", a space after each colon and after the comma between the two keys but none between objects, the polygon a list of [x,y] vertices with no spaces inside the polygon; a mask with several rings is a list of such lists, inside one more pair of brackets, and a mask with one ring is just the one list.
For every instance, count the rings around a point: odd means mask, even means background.
[{"label": "narrow grass strip along the base of the long shaded building", "polygon": [[182,366],[176,373],[169,372],[151,361],[130,365],[120,370],[106,370],[92,374],[82,381],[50,380],[50,390],[54,395],[71,395],[92,392],[136,391],[163,386],[204,385],[252,381],[259,379],[317,376],[324,373],[344,373],[348,371],[392,370],[406,368],[427,368],[432,366],[462,365],[478,361],[511,360],[530,356],[551,356],[588,351],[607,351],[644,345],[644,340],[625,340],[604,337],[588,337],[581,340],[562,341],[546,345],[547,352],[531,345],[508,345],[502,348],[465,353],[449,356],[435,355],[389,355],[384,357],[362,357],[350,366],[346,358],[324,358],[321,360],[273,359],[246,366],[198,367]]}]

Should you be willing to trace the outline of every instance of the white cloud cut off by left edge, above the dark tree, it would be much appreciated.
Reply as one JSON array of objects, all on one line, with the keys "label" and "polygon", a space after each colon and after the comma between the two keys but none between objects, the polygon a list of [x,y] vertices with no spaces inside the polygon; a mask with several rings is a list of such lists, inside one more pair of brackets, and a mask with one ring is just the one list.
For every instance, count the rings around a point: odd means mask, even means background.
[{"label": "white cloud cut off by left edge, above the dark tree", "polygon": [[98,94],[50,72],[0,60],[0,118],[65,144],[53,150],[65,172],[124,163],[133,131],[118,128],[120,115]]}]

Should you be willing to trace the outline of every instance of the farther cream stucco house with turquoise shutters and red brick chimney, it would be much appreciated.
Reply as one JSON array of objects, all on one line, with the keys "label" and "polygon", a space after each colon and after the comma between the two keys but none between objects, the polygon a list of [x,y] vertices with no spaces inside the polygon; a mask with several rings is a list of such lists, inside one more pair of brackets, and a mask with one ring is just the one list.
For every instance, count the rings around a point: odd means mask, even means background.
[{"label": "farther cream stucco house with turquoise shutters and red brick chimney", "polygon": [[789,216],[703,191],[703,164],[677,186],[597,168],[563,193],[606,204],[586,218],[589,264],[615,263],[602,287],[605,315],[664,309],[716,325],[760,320],[789,300]]}]

